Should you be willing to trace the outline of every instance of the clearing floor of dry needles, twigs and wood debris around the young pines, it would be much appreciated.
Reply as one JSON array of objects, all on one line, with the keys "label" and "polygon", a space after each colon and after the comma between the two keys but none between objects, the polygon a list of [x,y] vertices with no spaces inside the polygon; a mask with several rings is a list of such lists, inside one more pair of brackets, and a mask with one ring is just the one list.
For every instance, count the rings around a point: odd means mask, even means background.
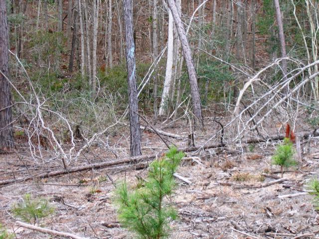
[{"label": "clearing floor of dry needles, twigs and wood debris around the young pines", "polygon": [[[181,122],[179,127],[165,130],[187,138],[188,129],[182,125],[185,124]],[[196,143],[205,142],[214,130],[211,127],[203,135],[198,135]],[[171,140],[178,146],[187,143],[186,140]],[[280,168],[270,163],[277,143],[256,144],[251,150],[244,148],[243,153],[224,149],[215,154],[217,149],[210,149],[205,155],[187,155],[177,172],[191,184],[176,179],[172,201],[178,220],[170,225],[170,238],[319,238],[319,215],[313,206],[313,196],[304,192],[308,180],[319,175],[318,142],[310,145],[298,168],[286,170],[282,180]],[[164,151],[165,145],[155,133],[148,132],[143,136],[143,148],[146,155]],[[98,153],[99,149],[94,150]],[[111,155],[105,155],[105,158]],[[32,165],[32,162],[26,164]],[[28,172],[15,154],[1,155],[0,179],[12,178],[12,173],[8,172],[13,171],[16,172],[14,176],[19,177],[29,173],[37,175],[44,169],[30,167]],[[15,224],[10,208],[24,194],[30,193],[34,197],[49,199],[55,207],[53,216],[39,222],[42,227],[86,238],[133,238],[125,229],[112,227],[117,222],[116,208],[112,203],[114,186],[106,174],[114,181],[126,178],[130,185],[134,185],[137,175],[146,177],[147,169],[136,170],[131,164],[48,179],[35,176],[31,181],[0,186],[0,223],[10,232],[14,231],[17,239],[52,238]]]}]

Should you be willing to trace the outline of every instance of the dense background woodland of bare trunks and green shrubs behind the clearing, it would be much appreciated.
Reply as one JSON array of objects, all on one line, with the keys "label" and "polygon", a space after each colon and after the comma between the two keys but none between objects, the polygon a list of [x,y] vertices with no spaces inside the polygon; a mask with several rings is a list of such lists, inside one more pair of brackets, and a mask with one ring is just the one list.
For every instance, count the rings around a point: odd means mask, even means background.
[{"label": "dense background woodland of bare trunks and green shrubs behind the clearing", "polygon": [[[177,119],[192,99],[189,106],[200,125],[202,107],[236,103],[245,83],[239,69],[257,72],[287,56],[305,65],[315,62],[318,4],[315,0],[133,1],[140,108],[154,114],[156,123],[159,116]],[[9,49],[28,72],[35,92],[45,97],[50,107],[70,118],[77,112],[76,105],[90,112],[90,104],[101,110],[107,102],[112,108],[108,115],[125,112],[125,1],[6,0],[5,6]],[[189,55],[184,51],[186,42]],[[23,96],[31,98],[25,72],[12,54],[10,79]],[[188,65],[193,65],[193,70]],[[291,61],[283,59],[281,65],[283,71],[274,69],[266,84],[290,76],[294,69]],[[318,65],[307,71],[309,75],[318,72]],[[310,100],[318,101],[318,77],[305,91]],[[18,99],[15,93],[12,98]],[[73,122],[82,123],[85,118],[90,125],[94,117],[85,116],[77,114]],[[93,133],[96,129],[87,130]]]}]

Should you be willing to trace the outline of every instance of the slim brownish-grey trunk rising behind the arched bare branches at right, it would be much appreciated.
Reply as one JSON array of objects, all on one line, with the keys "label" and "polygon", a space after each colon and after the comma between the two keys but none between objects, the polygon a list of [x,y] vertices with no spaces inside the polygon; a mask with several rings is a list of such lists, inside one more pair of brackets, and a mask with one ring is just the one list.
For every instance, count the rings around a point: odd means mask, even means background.
[{"label": "slim brownish-grey trunk rising behind the arched bare branches at right", "polygon": [[[280,40],[280,50],[281,50],[281,57],[287,57],[286,54],[286,40],[285,40],[285,35],[284,35],[284,25],[283,25],[283,18],[280,10],[280,5],[279,5],[279,0],[274,0],[275,1],[275,7],[276,7],[276,18],[277,18],[277,24],[279,28],[279,40]],[[286,79],[287,77],[287,60],[283,60],[283,74]],[[285,93],[288,92],[288,87],[284,91]]]}]

